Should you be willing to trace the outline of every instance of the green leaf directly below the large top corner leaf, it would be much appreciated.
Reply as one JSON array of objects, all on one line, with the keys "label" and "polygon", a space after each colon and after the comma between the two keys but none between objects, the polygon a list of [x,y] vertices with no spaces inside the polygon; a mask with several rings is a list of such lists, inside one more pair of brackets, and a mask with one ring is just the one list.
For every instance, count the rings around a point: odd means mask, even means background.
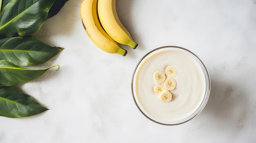
[{"label": "green leaf directly below the large top corner leaf", "polygon": [[16,66],[43,64],[62,50],[44,44],[31,35],[0,40],[0,59],[6,59]]}]

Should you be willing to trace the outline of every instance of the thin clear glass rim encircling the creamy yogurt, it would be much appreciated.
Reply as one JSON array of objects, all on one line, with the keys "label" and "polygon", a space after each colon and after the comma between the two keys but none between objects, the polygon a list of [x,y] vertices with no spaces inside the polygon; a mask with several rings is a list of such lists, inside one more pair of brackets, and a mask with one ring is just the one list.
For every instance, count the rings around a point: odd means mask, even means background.
[{"label": "thin clear glass rim encircling the creamy yogurt", "polygon": [[[196,59],[198,59],[198,60],[200,61],[200,63],[201,63],[202,66],[204,67],[204,70],[206,71],[207,79],[208,79],[208,81],[209,81],[209,87],[208,87],[208,88],[209,88],[209,92],[208,92],[208,94],[205,93],[205,95],[204,95],[204,96],[207,96],[207,97],[206,97],[206,99],[205,99],[205,101],[204,101],[204,103],[203,103],[201,109],[200,109],[194,116],[192,116],[192,117],[190,117],[189,119],[187,119],[187,120],[185,120],[185,121],[182,121],[182,122],[180,122],[180,123],[173,123],[173,124],[161,123],[161,122],[155,121],[155,120],[151,119],[150,117],[148,117],[148,116],[139,108],[139,105],[138,105],[138,103],[137,103],[137,101],[136,101],[136,99],[135,99],[135,95],[134,95],[134,91],[133,91],[133,80],[134,80],[134,76],[135,76],[136,70],[137,70],[137,68],[139,67],[139,64],[140,64],[140,63],[142,62],[142,60],[143,60],[145,57],[147,57],[149,54],[151,54],[151,53],[153,53],[153,52],[155,52],[155,51],[157,51],[157,50],[159,50],[159,49],[163,49],[163,48],[179,48],[179,49],[182,49],[182,50],[184,50],[184,51],[187,51],[187,52],[191,53],[193,56],[195,56]],[[202,110],[204,109],[204,107],[205,107],[205,105],[206,105],[206,103],[207,103],[207,101],[208,101],[208,99],[209,99],[209,95],[210,95],[210,92],[211,92],[211,79],[210,79],[209,72],[208,72],[206,66],[204,65],[204,63],[202,62],[202,60],[201,60],[197,55],[195,55],[193,52],[189,51],[189,50],[186,49],[186,48],[182,48],[182,47],[179,47],[179,46],[162,46],[162,47],[159,47],[159,48],[155,48],[155,49],[153,49],[152,51],[146,53],[146,55],[144,55],[144,56],[139,60],[138,64],[136,65],[136,67],[135,67],[135,69],[134,69],[134,71],[133,71],[133,74],[132,74],[131,88],[132,88],[132,97],[133,97],[133,100],[134,100],[134,102],[135,102],[137,108],[139,109],[139,111],[140,111],[145,117],[147,117],[149,120],[151,120],[151,121],[153,121],[153,122],[155,122],[155,123],[161,124],[161,125],[180,125],[180,124],[183,124],[183,123],[186,123],[186,122],[190,121],[191,119],[193,119],[193,118],[195,118],[196,116],[198,116],[198,114],[200,114],[200,112],[202,112]],[[203,102],[203,101],[202,101],[202,102]],[[202,104],[202,103],[201,103],[201,104]],[[197,108],[197,110],[198,110],[199,108],[200,108],[200,106]]]}]

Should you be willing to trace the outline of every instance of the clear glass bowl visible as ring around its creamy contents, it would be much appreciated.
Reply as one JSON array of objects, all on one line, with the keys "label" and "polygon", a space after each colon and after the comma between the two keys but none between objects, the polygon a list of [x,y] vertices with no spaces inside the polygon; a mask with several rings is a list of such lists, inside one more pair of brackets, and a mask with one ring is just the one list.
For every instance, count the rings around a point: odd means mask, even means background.
[{"label": "clear glass bowl visible as ring around its creamy contents", "polygon": [[[137,68],[140,66],[141,62],[144,61],[144,59],[156,52],[159,51],[164,51],[166,49],[172,49],[172,50],[177,50],[177,51],[182,51],[184,53],[186,53],[187,55],[191,56],[193,59],[195,59],[198,64],[201,66],[203,73],[204,73],[204,77],[205,77],[205,92],[204,92],[204,98],[200,104],[200,106],[195,110],[195,112],[193,112],[192,114],[190,114],[188,117],[181,119],[181,120],[177,120],[177,121],[165,121],[165,120],[161,120],[161,119],[156,119],[154,117],[152,117],[150,114],[148,114],[146,111],[144,111],[144,109],[142,108],[142,106],[140,105],[140,103],[137,100],[137,95],[134,93],[134,77],[135,74],[137,72]],[[208,99],[209,99],[209,95],[210,95],[210,90],[211,90],[211,81],[210,81],[210,76],[209,73],[207,71],[207,68],[204,66],[203,62],[199,59],[198,56],[196,56],[194,53],[192,53],[191,51],[187,50],[186,48],[182,48],[182,47],[178,47],[178,46],[163,46],[163,47],[159,47],[156,48],[152,51],[150,51],[149,53],[147,53],[144,57],[141,58],[141,60],[139,61],[139,63],[137,64],[137,66],[135,67],[135,70],[132,74],[132,97],[134,99],[134,102],[137,106],[137,108],[139,109],[139,111],[144,114],[145,117],[147,117],[148,119],[150,119],[151,121],[155,122],[155,123],[159,123],[161,125],[179,125],[182,123],[186,123],[187,121],[193,119],[194,117],[196,117],[204,108],[204,106],[206,105]]]}]

